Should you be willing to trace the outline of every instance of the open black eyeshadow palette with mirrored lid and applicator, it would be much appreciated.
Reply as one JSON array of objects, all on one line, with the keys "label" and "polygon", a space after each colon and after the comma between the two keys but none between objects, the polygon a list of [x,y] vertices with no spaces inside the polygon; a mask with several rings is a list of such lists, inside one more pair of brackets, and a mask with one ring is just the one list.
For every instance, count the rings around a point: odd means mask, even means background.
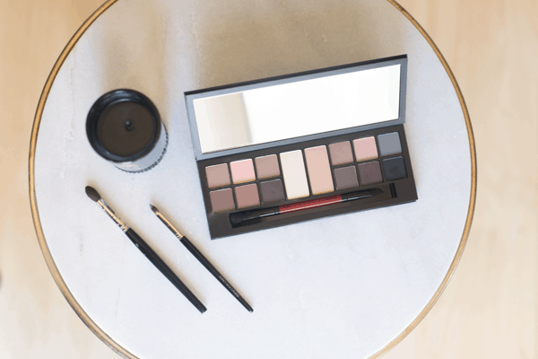
[{"label": "open black eyeshadow palette with mirrored lid and applicator", "polygon": [[212,238],[416,200],[406,65],[391,57],[186,92]]}]

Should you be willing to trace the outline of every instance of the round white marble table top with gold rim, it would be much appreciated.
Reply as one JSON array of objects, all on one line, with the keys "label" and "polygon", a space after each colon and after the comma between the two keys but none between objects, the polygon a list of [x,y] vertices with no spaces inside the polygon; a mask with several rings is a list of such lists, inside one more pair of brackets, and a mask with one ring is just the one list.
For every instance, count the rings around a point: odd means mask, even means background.
[{"label": "round white marble table top with gold rim", "polygon": [[[183,92],[380,57],[409,57],[405,131],[418,201],[210,241]],[[169,130],[162,162],[117,170],[91,149],[101,94],[131,88]],[[88,198],[96,188],[208,308],[169,284]],[[461,258],[476,191],[456,80],[386,0],[108,1],[54,67],[30,145],[30,202],[74,311],[128,358],[367,358],[395,346]],[[247,299],[247,312],[152,214],[158,206]]]}]

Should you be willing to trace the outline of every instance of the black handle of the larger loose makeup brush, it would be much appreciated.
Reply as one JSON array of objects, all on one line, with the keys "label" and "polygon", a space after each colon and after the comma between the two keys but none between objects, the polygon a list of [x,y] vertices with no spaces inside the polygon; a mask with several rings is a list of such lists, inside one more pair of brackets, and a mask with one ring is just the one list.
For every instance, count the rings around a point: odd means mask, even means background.
[{"label": "black handle of the larger loose makeup brush", "polygon": [[201,313],[207,311],[204,304],[202,304],[202,302],[196,298],[195,294],[187,288],[187,285],[181,282],[178,276],[172,272],[172,270],[166,265],[166,263],[164,263],[157,253],[152,250],[148,243],[143,241],[143,239],[136,232],[134,232],[132,228],[127,230],[126,235],[131,241],[133,241],[134,245],[143,253],[143,255],[150,259],[153,266],[157,267],[157,269],[159,269],[161,273],[168,278],[172,285],[176,286],[178,291],[185,295],[189,302],[193,303],[198,311]]}]

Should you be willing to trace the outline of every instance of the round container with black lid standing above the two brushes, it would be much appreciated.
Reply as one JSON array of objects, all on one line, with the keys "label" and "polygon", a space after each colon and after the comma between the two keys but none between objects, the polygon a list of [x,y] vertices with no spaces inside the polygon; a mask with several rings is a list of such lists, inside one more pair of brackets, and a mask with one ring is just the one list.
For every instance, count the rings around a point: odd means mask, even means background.
[{"label": "round container with black lid standing above the two brushes", "polygon": [[123,171],[151,170],[166,152],[168,134],[153,102],[134,90],[114,90],[91,106],[86,120],[91,147]]}]

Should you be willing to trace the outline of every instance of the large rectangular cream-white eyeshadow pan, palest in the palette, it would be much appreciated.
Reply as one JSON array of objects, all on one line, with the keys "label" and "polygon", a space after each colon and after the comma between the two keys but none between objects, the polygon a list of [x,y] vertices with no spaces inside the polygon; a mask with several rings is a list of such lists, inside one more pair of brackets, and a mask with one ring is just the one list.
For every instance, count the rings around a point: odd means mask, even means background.
[{"label": "large rectangular cream-white eyeshadow pan, palest in the palette", "polygon": [[284,152],[280,154],[282,175],[288,199],[308,197],[307,172],[300,150]]}]

